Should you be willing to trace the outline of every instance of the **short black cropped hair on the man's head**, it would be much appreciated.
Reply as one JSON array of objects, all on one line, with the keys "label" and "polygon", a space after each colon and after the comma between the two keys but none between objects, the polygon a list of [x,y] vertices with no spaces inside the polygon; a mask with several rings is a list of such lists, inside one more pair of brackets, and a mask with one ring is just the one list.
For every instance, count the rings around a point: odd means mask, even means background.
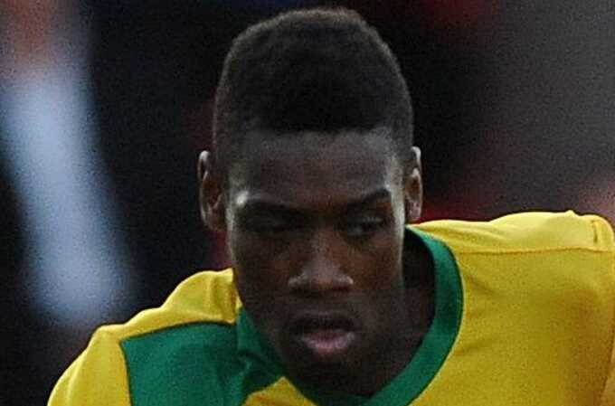
[{"label": "short black cropped hair on the man's head", "polygon": [[213,116],[223,169],[251,130],[280,134],[390,128],[399,158],[412,155],[412,103],[380,35],[345,8],[296,10],[252,25],[233,42]]}]

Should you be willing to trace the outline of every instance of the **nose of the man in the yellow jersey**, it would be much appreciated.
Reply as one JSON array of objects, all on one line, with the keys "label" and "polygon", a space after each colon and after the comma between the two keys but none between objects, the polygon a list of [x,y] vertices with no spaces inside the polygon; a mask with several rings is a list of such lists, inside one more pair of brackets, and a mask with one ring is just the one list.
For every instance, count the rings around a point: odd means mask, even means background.
[{"label": "nose of the man in the yellow jersey", "polygon": [[315,231],[306,244],[306,257],[298,273],[289,279],[295,293],[321,296],[328,292],[347,291],[355,281],[345,272],[344,241],[335,231]]}]

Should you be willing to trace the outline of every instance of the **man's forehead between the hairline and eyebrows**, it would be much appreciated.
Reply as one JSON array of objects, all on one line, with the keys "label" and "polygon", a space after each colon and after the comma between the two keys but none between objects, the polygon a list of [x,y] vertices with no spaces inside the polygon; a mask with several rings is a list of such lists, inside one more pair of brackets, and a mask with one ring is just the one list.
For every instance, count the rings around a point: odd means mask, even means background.
[{"label": "man's forehead between the hairline and eyebrows", "polygon": [[263,199],[298,206],[335,206],[382,189],[393,194],[401,187],[402,167],[383,131],[253,132],[230,167],[229,192],[234,203]]}]

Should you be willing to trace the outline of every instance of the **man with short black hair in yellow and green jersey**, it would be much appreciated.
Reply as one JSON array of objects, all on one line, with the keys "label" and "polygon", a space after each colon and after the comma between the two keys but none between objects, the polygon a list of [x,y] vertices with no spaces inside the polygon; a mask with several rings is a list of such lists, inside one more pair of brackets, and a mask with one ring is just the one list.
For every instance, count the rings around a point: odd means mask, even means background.
[{"label": "man with short black hair in yellow and green jersey", "polygon": [[430,222],[410,96],[354,13],[235,40],[199,162],[232,269],[106,326],[50,405],[613,405],[615,248],[595,216]]}]

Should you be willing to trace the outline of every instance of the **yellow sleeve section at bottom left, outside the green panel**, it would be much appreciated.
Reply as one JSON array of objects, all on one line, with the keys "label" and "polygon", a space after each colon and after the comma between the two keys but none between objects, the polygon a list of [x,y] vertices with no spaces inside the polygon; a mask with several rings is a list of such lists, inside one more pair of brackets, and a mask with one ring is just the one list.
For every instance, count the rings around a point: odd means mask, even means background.
[{"label": "yellow sleeve section at bottom left, outside the green panel", "polygon": [[128,372],[118,340],[105,327],[61,375],[47,406],[130,406]]}]

